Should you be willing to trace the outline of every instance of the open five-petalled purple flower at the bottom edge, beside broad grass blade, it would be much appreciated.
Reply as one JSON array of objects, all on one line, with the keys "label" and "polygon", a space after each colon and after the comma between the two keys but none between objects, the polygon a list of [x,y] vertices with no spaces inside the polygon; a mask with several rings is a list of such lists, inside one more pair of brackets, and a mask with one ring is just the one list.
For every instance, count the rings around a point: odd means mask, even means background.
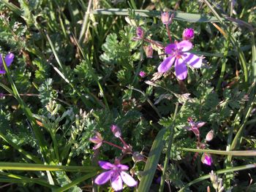
[{"label": "open five-petalled purple flower at the bottom edge, beside broad grass blade", "polygon": [[97,185],[103,185],[110,180],[111,187],[115,191],[120,191],[123,189],[123,182],[129,187],[134,187],[137,185],[137,181],[135,181],[132,176],[127,174],[127,172],[124,172],[129,169],[129,166],[120,164],[119,161],[116,161],[115,164],[110,164],[107,161],[99,161],[99,166],[101,166],[102,169],[106,169],[108,171],[102,172],[102,174],[99,174],[96,177],[94,182]]}]

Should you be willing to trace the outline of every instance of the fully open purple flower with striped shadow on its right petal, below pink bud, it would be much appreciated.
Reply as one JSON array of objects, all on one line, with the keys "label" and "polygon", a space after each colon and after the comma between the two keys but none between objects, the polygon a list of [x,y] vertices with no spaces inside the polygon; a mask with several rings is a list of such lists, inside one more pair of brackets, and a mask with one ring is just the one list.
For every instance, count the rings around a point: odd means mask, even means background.
[{"label": "fully open purple flower with striped shadow on its right petal, below pink bud", "polygon": [[170,55],[158,66],[158,72],[167,72],[175,62],[176,77],[179,80],[184,80],[187,77],[187,64],[195,68],[200,68],[202,58],[192,53],[187,53],[192,48],[192,43],[184,40],[175,42],[165,47],[165,53]]}]

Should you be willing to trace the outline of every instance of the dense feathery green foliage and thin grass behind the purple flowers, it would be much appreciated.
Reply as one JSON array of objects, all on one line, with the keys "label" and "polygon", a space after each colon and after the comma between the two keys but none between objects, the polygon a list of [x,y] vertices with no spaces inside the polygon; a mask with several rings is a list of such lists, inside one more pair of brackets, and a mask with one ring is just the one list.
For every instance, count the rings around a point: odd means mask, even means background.
[{"label": "dense feathery green foliage and thin grass behind the purple flowers", "polygon": [[[86,15],[89,2],[92,13]],[[164,45],[169,43],[167,32],[159,15],[143,17],[132,9],[169,11],[175,4],[176,1],[153,0],[1,0],[0,52],[14,53],[15,61],[10,72],[0,77],[0,161],[97,169],[97,159],[113,160],[121,154],[120,150],[103,145],[95,157],[89,142],[94,131],[101,132],[105,140],[113,140],[113,123],[121,127],[133,150],[143,150],[148,155],[159,131],[172,125],[178,102],[165,173],[173,191],[211,170],[255,164],[255,157],[229,159],[227,155],[214,155],[211,167],[201,164],[200,158],[192,164],[194,153],[182,150],[196,148],[195,137],[184,129],[189,117],[206,122],[200,129],[202,138],[214,130],[208,149],[255,150],[255,1],[210,1],[224,20],[215,23],[217,26],[174,18],[170,26],[173,40],[182,38],[184,28],[194,28],[193,51],[205,55],[205,64],[199,70],[189,69],[184,82],[176,80],[173,69],[153,82],[162,52],[154,47],[153,58],[146,58],[143,45],[148,43],[133,40],[136,26]],[[100,15],[96,10],[110,8],[129,9],[129,18],[120,16],[121,11]],[[206,1],[180,1],[178,12],[213,15]],[[236,20],[228,20],[227,15]],[[142,70],[147,74],[145,78],[138,75]],[[7,88],[13,85],[9,74],[23,102],[8,93]],[[184,93],[190,93],[189,100],[184,100]],[[242,134],[236,138],[240,128]],[[169,137],[167,131],[159,164],[168,154]],[[28,158],[26,152],[34,158]],[[132,167],[129,156],[124,161]],[[133,167],[139,178],[144,166],[141,163]],[[26,179],[20,182],[10,173]],[[12,183],[4,187],[6,191],[50,191],[52,187],[42,183],[54,183],[60,188],[84,174],[4,171],[0,175],[2,186]],[[72,183],[69,190],[97,189],[91,186],[94,175]],[[159,188],[156,180],[160,175],[158,171],[154,175],[152,191]],[[255,184],[250,185],[249,180],[254,181],[255,175],[255,170],[249,169],[220,177],[225,190],[253,191]],[[203,180],[190,190],[206,191],[208,185],[211,186],[210,180]]]}]

